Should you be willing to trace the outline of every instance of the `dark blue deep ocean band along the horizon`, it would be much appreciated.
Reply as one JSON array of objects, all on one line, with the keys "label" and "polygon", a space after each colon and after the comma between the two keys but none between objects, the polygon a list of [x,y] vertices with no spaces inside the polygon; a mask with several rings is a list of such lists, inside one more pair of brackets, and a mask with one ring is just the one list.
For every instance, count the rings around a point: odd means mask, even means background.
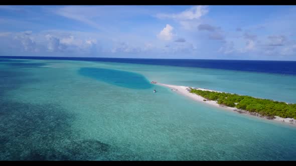
[{"label": "dark blue deep ocean band along the horizon", "polygon": [[200,67],[214,69],[228,69],[240,71],[296,74],[296,61],[272,60],[213,60],[213,59],[146,59],[146,58],[107,58],[107,57],[45,57],[45,56],[0,56],[0,58],[16,59],[56,59],[106,61],[134,64],[155,64],[183,67]]}]

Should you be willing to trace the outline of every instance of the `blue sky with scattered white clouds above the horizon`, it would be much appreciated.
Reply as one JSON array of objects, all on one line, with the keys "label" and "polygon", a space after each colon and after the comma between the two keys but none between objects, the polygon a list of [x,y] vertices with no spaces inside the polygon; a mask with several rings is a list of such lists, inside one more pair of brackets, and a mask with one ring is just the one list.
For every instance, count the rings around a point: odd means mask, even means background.
[{"label": "blue sky with scattered white clouds above the horizon", "polygon": [[296,60],[295,5],[0,5],[0,55]]}]

